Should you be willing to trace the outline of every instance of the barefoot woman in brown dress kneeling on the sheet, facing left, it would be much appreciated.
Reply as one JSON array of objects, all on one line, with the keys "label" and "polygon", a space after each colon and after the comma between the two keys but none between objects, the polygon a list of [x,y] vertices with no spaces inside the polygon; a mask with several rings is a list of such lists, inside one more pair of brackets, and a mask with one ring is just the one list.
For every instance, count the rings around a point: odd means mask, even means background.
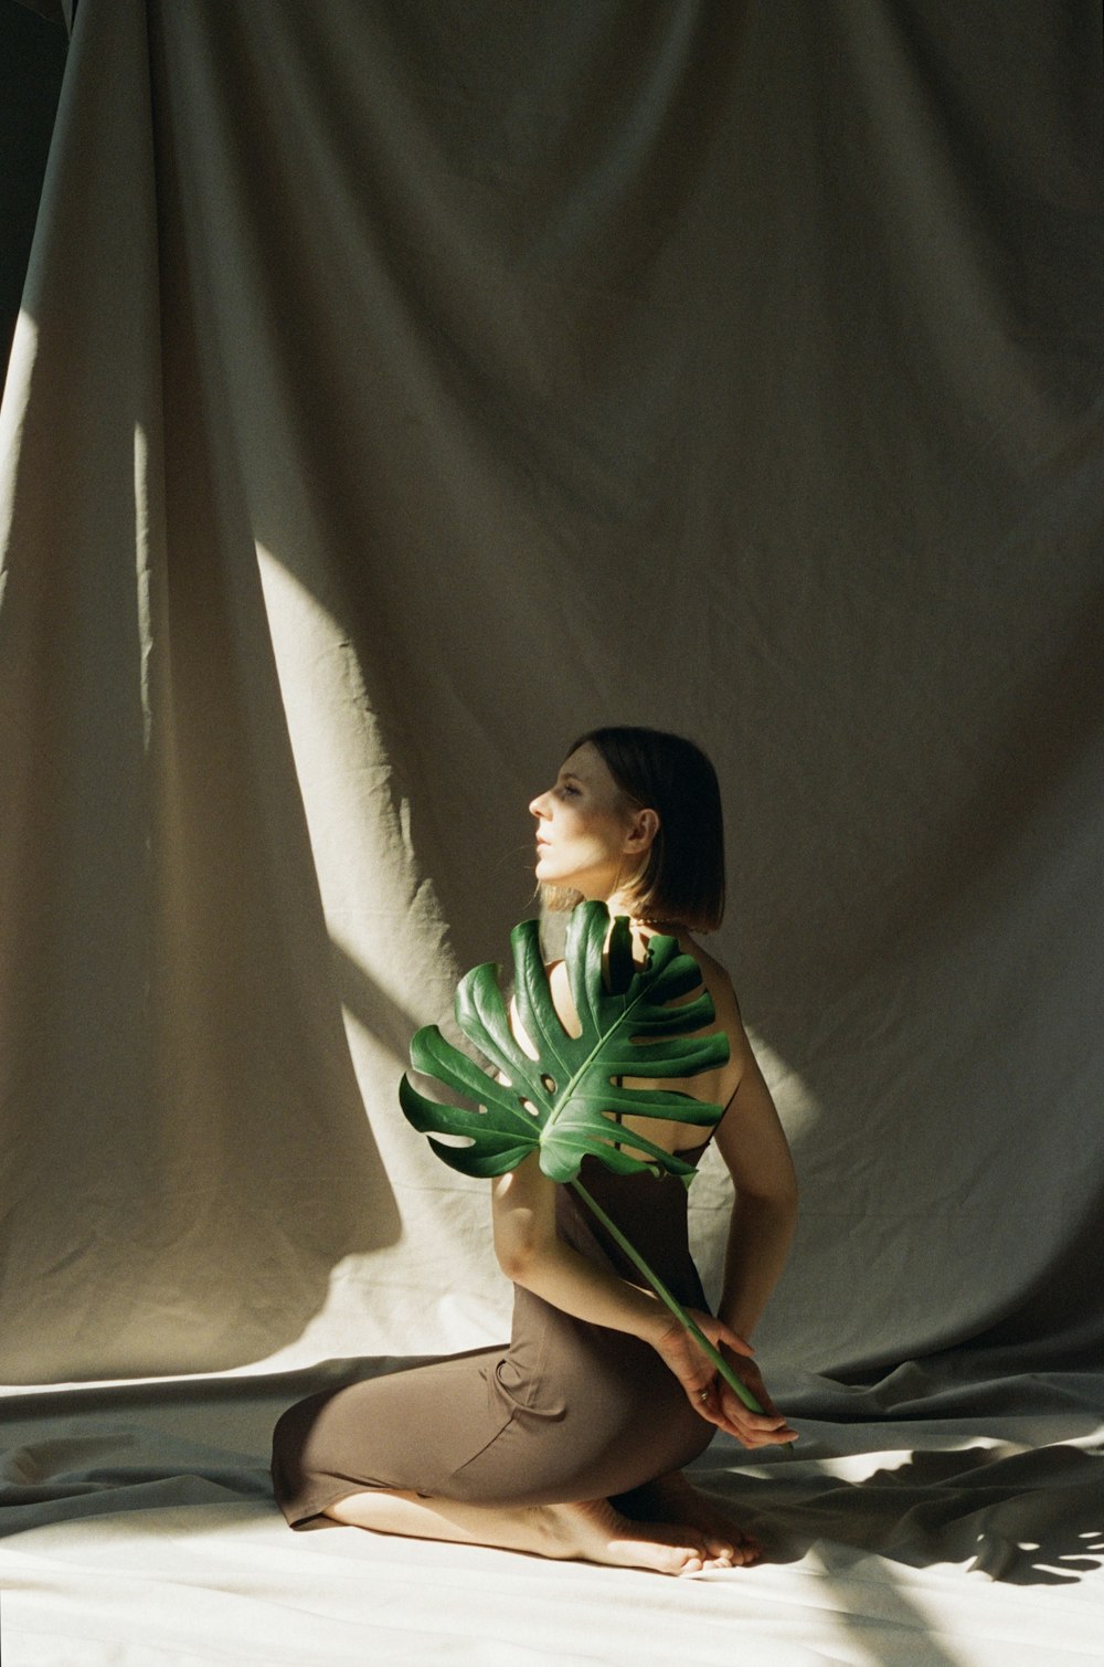
[{"label": "barefoot woman in brown dress kneeling on the sheet, facing left", "polygon": [[[574,743],[530,810],[550,904],[601,899],[611,915],[628,915],[639,962],[654,932],[676,935],[713,997],[728,1064],[628,1085],[726,1107],[713,1139],[736,1205],[718,1317],[704,1312],[689,1259],[684,1184],[616,1177],[593,1157],[581,1174],[766,1410],[749,1412],[718,1380],[576,1194],[548,1180],[531,1155],[493,1184],[495,1250],[516,1287],[510,1345],[291,1407],[275,1437],[276,1499],[293,1527],[341,1522],[663,1574],[751,1564],[756,1542],[681,1475],[714,1427],[744,1447],[796,1440],[746,1342],[789,1247],[793,1164],[728,974],[689,937],[714,930],[724,909],[716,775],[676,735],[599,728]],[[550,982],[563,1024],[578,1034],[563,964]],[[634,1119],[621,1127],[631,1135]],[[711,1135],[651,1117],[638,1132],[689,1162]],[[633,1150],[631,1139],[623,1144]]]}]

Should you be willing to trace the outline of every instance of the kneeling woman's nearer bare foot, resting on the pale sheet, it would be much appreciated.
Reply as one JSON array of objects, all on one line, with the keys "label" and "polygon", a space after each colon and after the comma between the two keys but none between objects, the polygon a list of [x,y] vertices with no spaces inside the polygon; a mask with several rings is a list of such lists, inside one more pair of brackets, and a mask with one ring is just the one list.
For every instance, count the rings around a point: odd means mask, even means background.
[{"label": "kneeling woman's nearer bare foot, resting on the pale sheet", "polygon": [[686,1522],[633,1522],[608,1499],[579,1505],[540,1507],[546,1540],[545,1557],[583,1557],[618,1569],[653,1569],[656,1574],[701,1574],[731,1569],[731,1540]]}]

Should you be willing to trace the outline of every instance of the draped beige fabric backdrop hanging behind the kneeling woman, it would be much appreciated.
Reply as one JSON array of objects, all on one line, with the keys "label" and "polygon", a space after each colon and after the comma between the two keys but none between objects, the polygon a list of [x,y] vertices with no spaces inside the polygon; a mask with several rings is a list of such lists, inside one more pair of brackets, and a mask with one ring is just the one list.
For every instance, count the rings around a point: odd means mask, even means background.
[{"label": "draped beige fabric backdrop hanging behind the kneeling woman", "polygon": [[3,403],[0,1377],[501,1332],[395,1084],[609,720],[726,788],[763,1357],[1099,1364],[1099,62],[1087,3],[80,0]]}]

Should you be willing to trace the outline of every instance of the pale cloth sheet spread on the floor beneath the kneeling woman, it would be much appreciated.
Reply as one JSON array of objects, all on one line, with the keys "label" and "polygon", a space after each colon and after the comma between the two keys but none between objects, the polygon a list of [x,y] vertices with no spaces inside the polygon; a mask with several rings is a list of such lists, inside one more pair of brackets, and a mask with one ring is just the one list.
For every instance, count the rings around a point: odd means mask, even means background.
[{"label": "pale cloth sheet spread on the floor beneath the kneeling woman", "polygon": [[316,1380],[10,1397],[3,1667],[1104,1660],[1104,1425],[1084,1374],[974,1384],[957,1414],[932,1397],[932,1415],[908,1402],[896,1420],[871,1390],[788,1385],[824,1412],[798,1419],[799,1457],[748,1464],[718,1439],[696,1467],[766,1560],[686,1580],[290,1534],[268,1497],[268,1430]]}]

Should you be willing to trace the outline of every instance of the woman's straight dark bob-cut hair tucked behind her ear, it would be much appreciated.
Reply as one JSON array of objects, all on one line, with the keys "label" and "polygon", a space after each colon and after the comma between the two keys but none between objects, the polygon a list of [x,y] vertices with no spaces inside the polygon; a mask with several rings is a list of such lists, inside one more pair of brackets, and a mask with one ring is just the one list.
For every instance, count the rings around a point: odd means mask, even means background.
[{"label": "woman's straight dark bob-cut hair tucked behind her ear", "polygon": [[641,920],[716,932],[724,919],[724,818],[716,770],[701,747],[631,725],[588,730],[624,797],[659,817],[648,865],[633,887]]}]

